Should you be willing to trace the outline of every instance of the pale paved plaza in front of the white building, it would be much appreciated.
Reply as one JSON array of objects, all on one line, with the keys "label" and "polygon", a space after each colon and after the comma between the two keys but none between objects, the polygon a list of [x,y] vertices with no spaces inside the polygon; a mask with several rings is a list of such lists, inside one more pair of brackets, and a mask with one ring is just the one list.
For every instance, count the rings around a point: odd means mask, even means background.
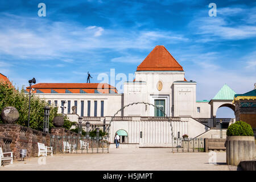
[{"label": "pale paved plaza in front of the white building", "polygon": [[[216,152],[216,163],[209,164],[209,153],[172,153],[170,148],[110,148],[109,154],[58,154],[42,158],[29,158],[0,170],[237,170],[225,164],[226,153]],[[41,160],[43,163],[43,160]]]}]

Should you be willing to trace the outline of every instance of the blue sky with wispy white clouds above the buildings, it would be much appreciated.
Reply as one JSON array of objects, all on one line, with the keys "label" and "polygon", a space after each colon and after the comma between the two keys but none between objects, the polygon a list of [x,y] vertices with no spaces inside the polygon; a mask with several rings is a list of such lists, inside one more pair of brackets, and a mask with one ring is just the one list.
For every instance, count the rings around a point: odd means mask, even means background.
[{"label": "blue sky with wispy white clouds above the buildings", "polygon": [[[38,4],[46,4],[46,17]],[[217,16],[210,17],[209,3]],[[100,73],[134,73],[164,45],[197,82],[197,100],[226,83],[237,93],[256,82],[255,1],[0,1],[0,73],[17,86],[100,82]],[[219,109],[221,114],[229,109]]]}]

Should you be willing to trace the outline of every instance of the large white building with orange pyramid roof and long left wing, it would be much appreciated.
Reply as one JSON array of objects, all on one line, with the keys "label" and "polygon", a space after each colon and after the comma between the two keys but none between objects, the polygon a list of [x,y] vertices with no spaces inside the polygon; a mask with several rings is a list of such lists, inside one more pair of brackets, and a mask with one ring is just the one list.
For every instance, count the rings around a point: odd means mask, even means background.
[{"label": "large white building with orange pyramid roof and long left wing", "polygon": [[195,138],[210,130],[214,120],[209,101],[196,101],[196,82],[184,75],[171,53],[156,46],[137,67],[134,81],[123,83],[123,93],[108,84],[40,83],[32,88],[72,121],[80,115],[84,124],[108,131],[110,142],[118,133],[122,143],[171,146],[174,137]]}]

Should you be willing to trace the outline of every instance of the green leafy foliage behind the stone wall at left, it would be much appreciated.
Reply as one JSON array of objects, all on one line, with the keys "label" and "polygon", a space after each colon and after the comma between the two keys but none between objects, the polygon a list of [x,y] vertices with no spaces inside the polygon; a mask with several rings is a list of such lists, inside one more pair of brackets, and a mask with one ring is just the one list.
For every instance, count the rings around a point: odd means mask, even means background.
[{"label": "green leafy foliage behind the stone wall at left", "polygon": [[[10,86],[7,82],[0,82],[0,111],[7,106],[13,106],[19,111],[19,119],[16,122],[22,126],[28,126],[28,100],[29,94],[25,93],[22,88],[20,91]],[[30,99],[30,127],[35,130],[43,131],[44,121],[44,107],[48,105],[45,100],[31,94]],[[57,115],[57,107],[53,105],[49,115],[49,130],[53,126],[53,118]],[[0,119],[0,123],[3,123]],[[70,129],[72,122],[68,121],[67,117],[64,117],[64,126],[66,129]]]}]

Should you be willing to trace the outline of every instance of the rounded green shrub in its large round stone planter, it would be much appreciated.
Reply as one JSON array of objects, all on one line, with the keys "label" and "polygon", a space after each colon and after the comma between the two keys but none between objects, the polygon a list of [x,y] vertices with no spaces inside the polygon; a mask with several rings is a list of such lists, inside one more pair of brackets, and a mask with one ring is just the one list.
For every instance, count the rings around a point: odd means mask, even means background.
[{"label": "rounded green shrub in its large round stone planter", "polygon": [[243,160],[255,159],[254,134],[249,124],[237,121],[226,131],[226,163],[239,166]]}]

